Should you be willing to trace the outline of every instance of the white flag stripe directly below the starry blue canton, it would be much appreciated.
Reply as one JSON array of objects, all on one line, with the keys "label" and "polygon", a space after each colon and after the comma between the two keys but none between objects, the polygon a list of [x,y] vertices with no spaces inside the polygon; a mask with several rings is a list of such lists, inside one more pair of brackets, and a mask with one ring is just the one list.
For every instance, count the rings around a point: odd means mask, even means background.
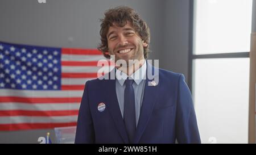
[{"label": "white flag stripe directly below the starry blue canton", "polygon": [[81,91],[44,91],[44,90],[12,90],[12,89],[0,89],[0,97],[82,97],[83,90]]}]

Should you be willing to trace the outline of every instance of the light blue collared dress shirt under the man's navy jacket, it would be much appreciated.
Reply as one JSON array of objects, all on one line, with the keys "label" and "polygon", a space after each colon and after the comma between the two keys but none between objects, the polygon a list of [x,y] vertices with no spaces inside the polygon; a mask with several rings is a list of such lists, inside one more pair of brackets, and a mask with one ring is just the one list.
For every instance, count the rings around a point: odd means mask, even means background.
[{"label": "light blue collared dress shirt under the man's navy jacket", "polygon": [[[144,64],[136,70],[133,74],[131,74],[130,78],[134,79],[133,89],[135,95],[135,115],[136,115],[136,125],[138,125],[139,115],[141,112],[141,106],[144,96],[144,87],[146,83],[146,71],[147,71],[147,63],[144,61]],[[116,70],[115,72],[115,91],[117,93],[117,99],[119,108],[123,117],[123,106],[124,106],[124,96],[125,96],[125,80],[127,79],[127,74],[121,72],[120,70]]]}]

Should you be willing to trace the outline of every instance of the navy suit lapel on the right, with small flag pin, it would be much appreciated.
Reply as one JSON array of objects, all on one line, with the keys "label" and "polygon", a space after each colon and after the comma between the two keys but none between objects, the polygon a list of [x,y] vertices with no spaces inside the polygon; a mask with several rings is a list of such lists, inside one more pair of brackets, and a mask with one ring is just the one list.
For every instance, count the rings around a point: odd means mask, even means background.
[{"label": "navy suit lapel on the right, with small flag pin", "polygon": [[[154,67],[151,66],[147,62],[147,71],[152,70],[152,74],[154,75]],[[154,75],[156,77],[158,75]],[[139,139],[141,139],[142,133],[144,132],[144,129],[147,126],[148,120],[150,119],[150,116],[152,114],[152,111],[154,109],[154,105],[156,102],[157,98],[157,92],[158,92],[158,85],[152,86],[148,85],[151,83],[152,79],[148,79],[148,76],[146,78],[146,83],[144,87],[144,96],[143,96],[143,102],[142,102],[142,107],[141,107],[141,115],[139,116],[139,122],[137,125],[135,137],[133,143],[139,143]]]}]

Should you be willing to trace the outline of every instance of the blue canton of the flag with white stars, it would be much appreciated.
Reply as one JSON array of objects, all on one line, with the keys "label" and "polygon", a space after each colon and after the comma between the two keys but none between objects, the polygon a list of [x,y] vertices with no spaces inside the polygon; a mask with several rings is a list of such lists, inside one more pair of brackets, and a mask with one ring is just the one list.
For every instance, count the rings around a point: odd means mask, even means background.
[{"label": "blue canton of the flag with white stars", "polygon": [[61,48],[0,43],[0,89],[60,90]]}]

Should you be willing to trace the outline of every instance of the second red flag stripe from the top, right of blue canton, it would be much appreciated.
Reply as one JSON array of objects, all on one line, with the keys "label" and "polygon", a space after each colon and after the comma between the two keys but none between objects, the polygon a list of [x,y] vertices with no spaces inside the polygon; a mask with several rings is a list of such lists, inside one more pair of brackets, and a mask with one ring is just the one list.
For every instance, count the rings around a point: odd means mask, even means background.
[{"label": "second red flag stripe from the top, right of blue canton", "polygon": [[[101,64],[106,63],[106,61],[61,61],[62,66],[97,66],[98,62],[101,62]],[[108,65],[114,65],[113,62],[108,61]],[[101,67],[101,66],[98,66]]]}]

